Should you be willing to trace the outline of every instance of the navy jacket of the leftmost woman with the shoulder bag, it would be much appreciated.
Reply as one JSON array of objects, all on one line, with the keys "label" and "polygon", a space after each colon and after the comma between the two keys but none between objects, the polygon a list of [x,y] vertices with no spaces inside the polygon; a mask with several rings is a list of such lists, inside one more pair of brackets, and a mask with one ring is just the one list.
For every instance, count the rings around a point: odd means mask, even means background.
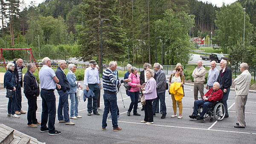
[{"label": "navy jacket of the leftmost woman with the shoulder bag", "polygon": [[13,89],[13,86],[16,87],[16,85],[17,81],[15,80],[14,72],[12,72],[12,70],[7,70],[3,78],[3,87],[6,89]]}]

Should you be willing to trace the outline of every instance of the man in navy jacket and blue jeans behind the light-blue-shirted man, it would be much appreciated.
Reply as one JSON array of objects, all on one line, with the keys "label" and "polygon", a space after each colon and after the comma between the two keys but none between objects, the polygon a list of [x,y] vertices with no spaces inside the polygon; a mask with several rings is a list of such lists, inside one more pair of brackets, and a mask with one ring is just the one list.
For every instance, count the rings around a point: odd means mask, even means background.
[{"label": "man in navy jacket and blue jeans behind the light-blue-shirted man", "polygon": [[[58,120],[59,123],[65,123],[67,125],[75,125],[75,123],[70,121],[69,113],[68,113],[68,95],[70,92],[70,84],[65,75],[64,69],[66,68],[66,61],[59,60],[58,61],[58,69],[55,74],[59,80],[58,84],[61,85],[61,89],[58,89],[59,104],[58,104]],[[64,117],[62,115],[62,111]]]}]

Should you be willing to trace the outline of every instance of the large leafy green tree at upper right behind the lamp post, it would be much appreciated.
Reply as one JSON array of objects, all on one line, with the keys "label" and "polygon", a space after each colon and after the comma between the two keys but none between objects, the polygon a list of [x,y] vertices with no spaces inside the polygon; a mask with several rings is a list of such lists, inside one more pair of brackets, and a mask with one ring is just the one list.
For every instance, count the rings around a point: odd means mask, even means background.
[{"label": "large leafy green tree at upper right behind the lamp post", "polygon": [[215,23],[218,30],[215,30],[215,39],[221,46],[221,49],[227,52],[227,47],[232,48],[243,35],[245,43],[248,43],[252,26],[250,24],[250,17],[248,14],[245,14],[244,32],[244,11],[241,4],[233,3],[225,6],[223,3],[220,9],[220,12],[216,11],[217,20],[215,20]]}]

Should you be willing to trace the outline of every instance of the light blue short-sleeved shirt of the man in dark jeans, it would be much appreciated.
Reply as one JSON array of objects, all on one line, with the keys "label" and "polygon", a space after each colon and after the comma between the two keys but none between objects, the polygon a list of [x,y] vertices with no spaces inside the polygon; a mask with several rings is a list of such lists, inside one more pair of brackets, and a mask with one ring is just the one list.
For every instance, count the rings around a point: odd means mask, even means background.
[{"label": "light blue short-sleeved shirt of the man in dark jeans", "polygon": [[42,89],[56,89],[55,81],[53,77],[55,77],[55,72],[47,65],[43,65],[43,67],[39,71],[39,81]]}]

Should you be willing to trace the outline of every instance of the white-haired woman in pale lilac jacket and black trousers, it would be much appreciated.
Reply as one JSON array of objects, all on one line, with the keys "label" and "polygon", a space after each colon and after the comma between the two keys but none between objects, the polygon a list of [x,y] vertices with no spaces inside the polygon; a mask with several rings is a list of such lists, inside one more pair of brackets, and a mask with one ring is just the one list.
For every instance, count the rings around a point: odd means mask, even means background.
[{"label": "white-haired woman in pale lilac jacket and black trousers", "polygon": [[144,94],[144,99],[146,100],[146,104],[144,106],[145,117],[144,117],[144,121],[140,121],[140,122],[145,124],[154,124],[152,101],[154,98],[157,98],[157,83],[154,79],[153,70],[147,69],[146,77],[148,81],[145,84],[145,89],[143,89],[142,91],[142,93]]}]

